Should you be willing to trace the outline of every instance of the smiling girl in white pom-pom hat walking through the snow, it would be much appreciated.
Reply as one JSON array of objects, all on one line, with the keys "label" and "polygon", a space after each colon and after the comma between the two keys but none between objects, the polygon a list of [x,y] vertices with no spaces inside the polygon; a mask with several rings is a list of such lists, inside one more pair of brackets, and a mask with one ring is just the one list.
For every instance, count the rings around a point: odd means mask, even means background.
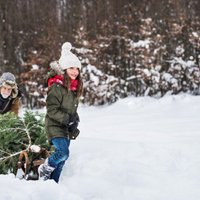
[{"label": "smiling girl in white pom-pom hat walking through the snow", "polygon": [[83,83],[80,75],[81,62],[71,52],[69,42],[62,45],[59,61],[50,65],[53,70],[48,78],[45,128],[55,151],[40,165],[38,173],[40,179],[53,179],[58,183],[69,157],[70,140],[79,134],[77,107]]}]

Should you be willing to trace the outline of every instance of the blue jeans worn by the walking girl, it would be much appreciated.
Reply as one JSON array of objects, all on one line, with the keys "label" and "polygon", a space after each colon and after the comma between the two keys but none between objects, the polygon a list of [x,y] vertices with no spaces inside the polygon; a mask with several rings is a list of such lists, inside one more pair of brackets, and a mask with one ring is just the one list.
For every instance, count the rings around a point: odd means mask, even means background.
[{"label": "blue jeans worn by the walking girl", "polygon": [[55,147],[55,152],[48,158],[48,164],[55,168],[51,174],[51,179],[58,183],[65,161],[69,157],[70,140],[59,137],[53,138],[51,142]]}]

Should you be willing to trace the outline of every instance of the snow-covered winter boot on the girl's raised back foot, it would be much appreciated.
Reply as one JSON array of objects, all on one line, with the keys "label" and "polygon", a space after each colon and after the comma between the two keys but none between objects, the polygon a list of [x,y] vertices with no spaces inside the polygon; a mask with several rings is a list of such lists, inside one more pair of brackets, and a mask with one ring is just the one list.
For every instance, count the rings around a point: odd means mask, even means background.
[{"label": "snow-covered winter boot on the girl's raised back foot", "polygon": [[51,173],[55,168],[48,164],[48,159],[38,167],[39,180],[48,180],[51,178]]}]

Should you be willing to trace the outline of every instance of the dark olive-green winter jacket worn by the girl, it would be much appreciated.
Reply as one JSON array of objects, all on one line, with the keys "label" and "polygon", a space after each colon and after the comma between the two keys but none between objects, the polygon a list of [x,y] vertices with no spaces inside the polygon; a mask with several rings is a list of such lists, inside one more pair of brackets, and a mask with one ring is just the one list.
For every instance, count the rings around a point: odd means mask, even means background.
[{"label": "dark olive-green winter jacket worn by the girl", "polygon": [[51,141],[55,137],[69,139],[67,125],[69,115],[77,112],[78,100],[74,91],[68,91],[60,84],[53,84],[49,88],[46,99],[47,114],[45,129]]}]

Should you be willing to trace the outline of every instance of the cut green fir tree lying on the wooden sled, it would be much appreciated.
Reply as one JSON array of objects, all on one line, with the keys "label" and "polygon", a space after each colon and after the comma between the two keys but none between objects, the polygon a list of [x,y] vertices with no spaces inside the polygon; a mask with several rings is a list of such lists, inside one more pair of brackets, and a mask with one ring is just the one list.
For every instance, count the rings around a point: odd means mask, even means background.
[{"label": "cut green fir tree lying on the wooden sled", "polygon": [[[32,145],[50,149],[44,129],[44,116],[26,112],[23,118],[12,113],[0,115],[0,174],[14,173],[22,151],[29,154]],[[34,156],[29,154],[29,158]]]}]

